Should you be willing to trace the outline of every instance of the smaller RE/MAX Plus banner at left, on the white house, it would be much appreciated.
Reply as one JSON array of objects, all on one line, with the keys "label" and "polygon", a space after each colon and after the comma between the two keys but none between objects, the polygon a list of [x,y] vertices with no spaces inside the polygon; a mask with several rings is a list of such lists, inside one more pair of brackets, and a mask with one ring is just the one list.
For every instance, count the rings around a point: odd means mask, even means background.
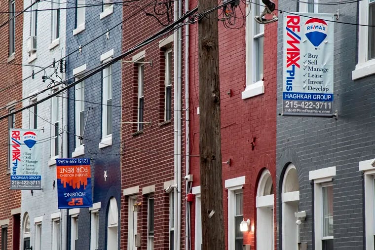
[{"label": "smaller RE/MAX Plus banner at left, on the white house", "polygon": [[38,129],[9,130],[10,189],[41,189]]}]

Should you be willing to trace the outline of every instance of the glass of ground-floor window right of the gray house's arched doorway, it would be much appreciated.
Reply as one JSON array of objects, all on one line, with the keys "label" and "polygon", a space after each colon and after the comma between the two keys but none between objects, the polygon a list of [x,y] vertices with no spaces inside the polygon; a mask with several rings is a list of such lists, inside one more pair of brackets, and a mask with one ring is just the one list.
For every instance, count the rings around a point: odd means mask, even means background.
[{"label": "glass of ground-floor window right of the gray house's arched doorway", "polygon": [[323,193],[323,237],[334,236],[333,186],[322,188]]}]

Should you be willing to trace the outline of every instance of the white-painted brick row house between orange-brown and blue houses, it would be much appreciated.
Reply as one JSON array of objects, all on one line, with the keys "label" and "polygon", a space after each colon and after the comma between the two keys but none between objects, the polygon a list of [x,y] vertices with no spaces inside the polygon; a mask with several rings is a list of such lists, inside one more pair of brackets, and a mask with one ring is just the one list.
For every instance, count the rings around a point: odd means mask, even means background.
[{"label": "white-painted brick row house between orange-brown and blue houses", "polygon": [[22,112],[22,128],[40,130],[42,179],[40,189],[22,190],[21,249],[66,248],[67,211],[58,209],[56,158],[68,156],[68,102],[66,94],[49,98],[64,86],[65,7],[59,1],[25,1],[23,6],[31,11],[23,13],[22,105],[29,108]]}]

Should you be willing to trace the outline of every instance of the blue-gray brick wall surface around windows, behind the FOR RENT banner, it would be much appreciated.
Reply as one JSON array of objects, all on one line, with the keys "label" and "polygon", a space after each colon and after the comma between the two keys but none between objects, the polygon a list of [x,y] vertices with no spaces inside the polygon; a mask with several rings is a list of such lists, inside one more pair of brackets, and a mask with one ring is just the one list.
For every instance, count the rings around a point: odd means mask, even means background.
[{"label": "blue-gray brick wall surface around windows, behind the FOR RENT banner", "polygon": [[[98,4],[96,0],[88,0],[86,4]],[[68,7],[73,7],[73,3],[68,3]],[[86,7],[86,29],[73,36],[75,28],[75,9],[67,10],[67,54],[72,53],[79,46],[89,43],[82,48],[81,54],[73,53],[67,60],[67,78],[73,76],[73,69],[86,64],[87,70],[100,65],[100,55],[113,49],[114,56],[121,53],[121,21],[122,5],[113,5],[113,13],[102,20],[99,15],[102,12],[102,6]],[[112,29],[115,27],[114,29]],[[112,29],[112,30],[111,30]],[[107,39],[107,30],[110,31]],[[95,39],[97,38],[97,39]],[[85,154],[79,157],[91,158],[91,177],[93,202],[101,202],[99,214],[99,249],[106,250],[107,239],[107,213],[111,197],[116,198],[118,210],[118,228],[120,227],[120,194],[121,194],[121,175],[120,175],[120,124],[121,108],[112,107],[112,146],[99,149],[102,129],[102,74],[96,73],[85,80],[85,118],[87,125],[84,132],[83,143],[85,145]],[[71,83],[73,80],[71,81]],[[69,91],[69,131],[75,131],[75,104],[74,88]],[[120,106],[121,99],[121,65],[115,63],[112,65],[112,105]],[[75,149],[75,136],[69,135],[69,156]],[[105,180],[103,175],[107,171],[108,178]],[[70,221],[69,221],[70,223]],[[68,226],[70,230],[70,225]],[[70,232],[68,232],[68,244],[70,242]],[[118,237],[118,246],[119,246]],[[81,209],[78,219],[78,246],[77,249],[89,249],[90,246],[90,214],[88,209]],[[70,247],[69,247],[70,248]],[[119,248],[118,248],[119,249]]]}]

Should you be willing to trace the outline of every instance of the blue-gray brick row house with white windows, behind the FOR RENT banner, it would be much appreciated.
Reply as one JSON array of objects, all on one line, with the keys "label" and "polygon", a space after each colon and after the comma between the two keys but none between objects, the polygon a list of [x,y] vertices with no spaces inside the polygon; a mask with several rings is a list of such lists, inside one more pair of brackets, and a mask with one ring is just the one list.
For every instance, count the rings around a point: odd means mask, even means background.
[{"label": "blue-gray brick row house with white windows, behind the FOR RENT banner", "polygon": [[[99,6],[95,6],[99,5]],[[68,84],[121,53],[122,5],[78,0],[67,4]],[[67,249],[119,248],[121,65],[78,82],[68,91],[68,157],[89,158],[90,208],[70,209]]]}]

